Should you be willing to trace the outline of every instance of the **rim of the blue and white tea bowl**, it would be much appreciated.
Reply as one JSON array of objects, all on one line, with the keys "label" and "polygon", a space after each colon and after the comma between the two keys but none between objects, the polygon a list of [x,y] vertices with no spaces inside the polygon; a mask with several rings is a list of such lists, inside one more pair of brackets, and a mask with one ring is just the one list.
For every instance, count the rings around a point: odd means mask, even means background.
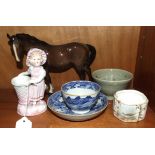
[{"label": "rim of the blue and white tea bowl", "polygon": [[[87,94],[87,95],[78,95],[78,94],[76,95],[76,94],[67,93],[67,92],[65,92],[65,91],[63,90],[63,87],[64,87],[65,85],[71,83],[71,82],[88,82],[88,83],[94,83],[94,84],[96,84],[96,85],[99,87],[99,89],[98,89],[98,91],[95,91],[95,93],[90,93],[90,94]],[[101,91],[101,86],[100,86],[98,83],[93,82],[93,81],[88,81],[88,80],[74,80],[74,81],[69,81],[69,82],[67,82],[67,83],[64,83],[64,84],[61,86],[61,92],[64,93],[65,95],[69,95],[69,96],[91,96],[91,95],[96,95],[96,94],[98,94],[100,91]]]}]

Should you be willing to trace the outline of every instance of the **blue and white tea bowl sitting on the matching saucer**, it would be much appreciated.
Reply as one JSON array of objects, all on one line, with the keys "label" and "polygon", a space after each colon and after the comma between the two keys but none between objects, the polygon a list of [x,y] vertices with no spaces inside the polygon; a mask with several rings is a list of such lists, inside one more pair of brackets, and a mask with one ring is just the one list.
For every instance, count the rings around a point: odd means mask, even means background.
[{"label": "blue and white tea bowl sitting on the matching saucer", "polygon": [[66,105],[75,113],[90,111],[96,104],[101,86],[91,81],[71,81],[61,87]]}]

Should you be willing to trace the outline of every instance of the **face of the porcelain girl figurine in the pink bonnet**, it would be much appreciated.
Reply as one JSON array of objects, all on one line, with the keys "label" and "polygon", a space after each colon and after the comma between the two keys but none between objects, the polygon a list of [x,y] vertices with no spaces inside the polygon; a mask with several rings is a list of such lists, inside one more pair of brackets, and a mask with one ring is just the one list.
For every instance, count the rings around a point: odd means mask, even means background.
[{"label": "face of the porcelain girl figurine in the pink bonnet", "polygon": [[32,66],[35,66],[35,67],[38,67],[41,65],[41,62],[42,62],[42,57],[40,54],[38,53],[34,53],[31,55],[30,57],[30,64]]}]

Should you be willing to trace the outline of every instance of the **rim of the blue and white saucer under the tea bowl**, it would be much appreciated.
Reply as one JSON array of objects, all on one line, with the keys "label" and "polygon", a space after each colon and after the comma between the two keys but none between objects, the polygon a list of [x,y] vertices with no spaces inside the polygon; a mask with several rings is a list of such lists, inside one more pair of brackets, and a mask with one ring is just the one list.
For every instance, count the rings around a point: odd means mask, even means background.
[{"label": "rim of the blue and white saucer under the tea bowl", "polygon": [[[56,91],[55,93],[53,93],[52,95],[54,95],[54,94],[56,94],[56,93],[61,93],[61,91]],[[58,113],[58,114],[62,114],[62,115],[66,115],[66,116],[78,116],[78,117],[84,117],[84,116],[92,116],[92,115],[95,115],[95,114],[100,114],[103,110],[105,110],[106,108],[107,108],[107,106],[108,106],[108,99],[107,99],[107,96],[106,95],[104,95],[102,92],[100,92],[100,94],[101,95],[103,95],[103,96],[105,96],[106,97],[106,104],[103,106],[103,108],[102,109],[100,109],[99,111],[95,111],[94,113],[84,113],[84,114],[78,114],[78,113],[74,113],[74,114],[66,114],[66,113],[63,113],[63,112],[58,112],[58,111],[56,111],[54,108],[51,108],[51,107],[49,107],[49,98],[48,98],[48,100],[47,100],[47,106],[48,106],[48,108],[50,109],[50,110],[52,110],[54,113]],[[51,95],[51,96],[52,96]]]}]

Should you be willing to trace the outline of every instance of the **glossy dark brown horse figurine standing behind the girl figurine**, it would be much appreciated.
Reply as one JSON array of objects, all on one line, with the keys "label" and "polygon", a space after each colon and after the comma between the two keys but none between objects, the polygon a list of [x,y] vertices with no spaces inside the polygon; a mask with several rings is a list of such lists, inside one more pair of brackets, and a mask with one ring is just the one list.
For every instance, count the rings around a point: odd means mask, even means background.
[{"label": "glossy dark brown horse figurine standing behind the girl figurine", "polygon": [[45,82],[50,93],[53,92],[50,72],[59,73],[74,68],[81,80],[85,80],[86,74],[89,80],[92,80],[90,65],[96,56],[96,50],[92,45],[76,42],[64,45],[50,45],[23,33],[12,36],[7,34],[7,37],[18,68],[23,67],[24,55],[27,55],[31,48],[39,48],[46,52],[47,62],[44,65],[46,70]]}]

